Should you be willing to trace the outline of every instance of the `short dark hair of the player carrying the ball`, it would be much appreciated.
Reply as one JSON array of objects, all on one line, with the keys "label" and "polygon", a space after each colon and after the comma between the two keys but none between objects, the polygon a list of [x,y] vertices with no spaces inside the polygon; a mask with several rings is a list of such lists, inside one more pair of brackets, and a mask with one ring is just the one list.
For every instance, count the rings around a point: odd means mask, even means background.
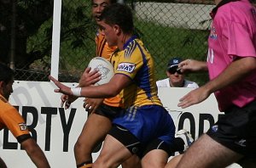
[{"label": "short dark hair of the player carrying the ball", "polygon": [[132,33],[134,30],[131,8],[124,4],[113,3],[104,8],[101,20],[108,25],[119,25],[124,33]]}]

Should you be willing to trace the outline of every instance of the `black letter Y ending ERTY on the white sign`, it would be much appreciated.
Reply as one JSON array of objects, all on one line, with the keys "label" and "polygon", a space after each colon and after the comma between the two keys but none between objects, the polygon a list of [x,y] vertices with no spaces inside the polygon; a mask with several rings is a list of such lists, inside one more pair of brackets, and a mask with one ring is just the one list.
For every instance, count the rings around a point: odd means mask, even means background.
[{"label": "black letter Y ending ERTY on the white sign", "polygon": [[68,120],[66,120],[64,108],[59,108],[59,111],[61,115],[61,125],[64,133],[63,152],[68,152],[68,137],[69,137],[69,132],[71,130],[72,123],[73,123],[74,115],[76,113],[76,109],[70,110],[70,115],[68,117]]}]

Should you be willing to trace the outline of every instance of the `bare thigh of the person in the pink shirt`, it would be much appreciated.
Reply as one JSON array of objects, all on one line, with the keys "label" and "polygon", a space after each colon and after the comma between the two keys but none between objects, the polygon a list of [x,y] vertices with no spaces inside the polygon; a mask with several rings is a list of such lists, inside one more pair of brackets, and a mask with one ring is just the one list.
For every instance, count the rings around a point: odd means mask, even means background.
[{"label": "bare thigh of the person in the pink shirt", "polygon": [[237,154],[230,150],[230,148],[224,147],[205,134],[195,141],[183,154],[177,167],[226,167],[241,159],[241,157],[241,154]]}]

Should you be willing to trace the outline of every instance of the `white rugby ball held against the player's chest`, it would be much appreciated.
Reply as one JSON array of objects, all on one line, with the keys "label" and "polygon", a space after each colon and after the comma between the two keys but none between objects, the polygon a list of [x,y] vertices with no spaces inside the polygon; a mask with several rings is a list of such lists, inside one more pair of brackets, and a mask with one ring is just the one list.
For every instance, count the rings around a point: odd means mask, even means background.
[{"label": "white rugby ball held against the player's chest", "polygon": [[91,59],[88,67],[90,67],[91,70],[99,70],[99,72],[102,74],[101,81],[96,82],[95,85],[108,83],[108,81],[110,81],[114,75],[113,65],[107,59],[102,57],[95,57]]}]

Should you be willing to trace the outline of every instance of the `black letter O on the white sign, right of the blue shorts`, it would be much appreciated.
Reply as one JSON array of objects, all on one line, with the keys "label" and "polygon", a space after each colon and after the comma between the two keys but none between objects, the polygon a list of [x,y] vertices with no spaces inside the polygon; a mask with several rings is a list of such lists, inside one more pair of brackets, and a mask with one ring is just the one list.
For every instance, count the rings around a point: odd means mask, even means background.
[{"label": "black letter O on the white sign, right of the blue shorts", "polygon": [[184,112],[181,116],[180,116],[180,119],[178,121],[178,126],[177,126],[177,130],[181,130],[183,129],[183,126],[184,126],[184,121],[185,120],[189,120],[189,123],[190,123],[190,134],[191,136],[195,139],[195,118],[194,116],[189,113],[189,112]]}]

